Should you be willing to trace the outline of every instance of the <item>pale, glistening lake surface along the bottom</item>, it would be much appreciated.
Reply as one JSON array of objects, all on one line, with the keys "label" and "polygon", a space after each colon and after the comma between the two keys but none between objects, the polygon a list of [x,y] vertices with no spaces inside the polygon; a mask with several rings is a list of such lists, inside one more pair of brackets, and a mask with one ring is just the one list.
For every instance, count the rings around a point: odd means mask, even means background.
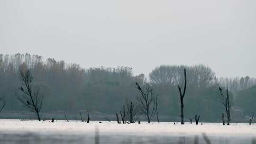
[{"label": "pale, glistening lake surface along the bottom", "polygon": [[[201,124],[201,123],[200,123]],[[256,125],[0,120],[0,144],[256,144]]]}]

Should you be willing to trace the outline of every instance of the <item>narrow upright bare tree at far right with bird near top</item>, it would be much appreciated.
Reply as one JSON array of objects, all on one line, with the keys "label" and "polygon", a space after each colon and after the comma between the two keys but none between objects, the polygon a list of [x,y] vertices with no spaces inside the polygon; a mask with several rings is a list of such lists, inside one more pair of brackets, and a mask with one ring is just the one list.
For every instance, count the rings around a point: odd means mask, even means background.
[{"label": "narrow upright bare tree at far right with bird near top", "polygon": [[224,96],[224,93],[222,91],[222,89],[219,87],[219,99],[220,99],[220,102],[222,103],[222,105],[225,107],[225,112],[226,112],[226,117],[227,117],[227,125],[229,125],[230,123],[230,108],[231,108],[231,105],[230,105],[230,101],[229,101],[229,90],[227,88],[226,90],[227,92],[227,96]]}]

